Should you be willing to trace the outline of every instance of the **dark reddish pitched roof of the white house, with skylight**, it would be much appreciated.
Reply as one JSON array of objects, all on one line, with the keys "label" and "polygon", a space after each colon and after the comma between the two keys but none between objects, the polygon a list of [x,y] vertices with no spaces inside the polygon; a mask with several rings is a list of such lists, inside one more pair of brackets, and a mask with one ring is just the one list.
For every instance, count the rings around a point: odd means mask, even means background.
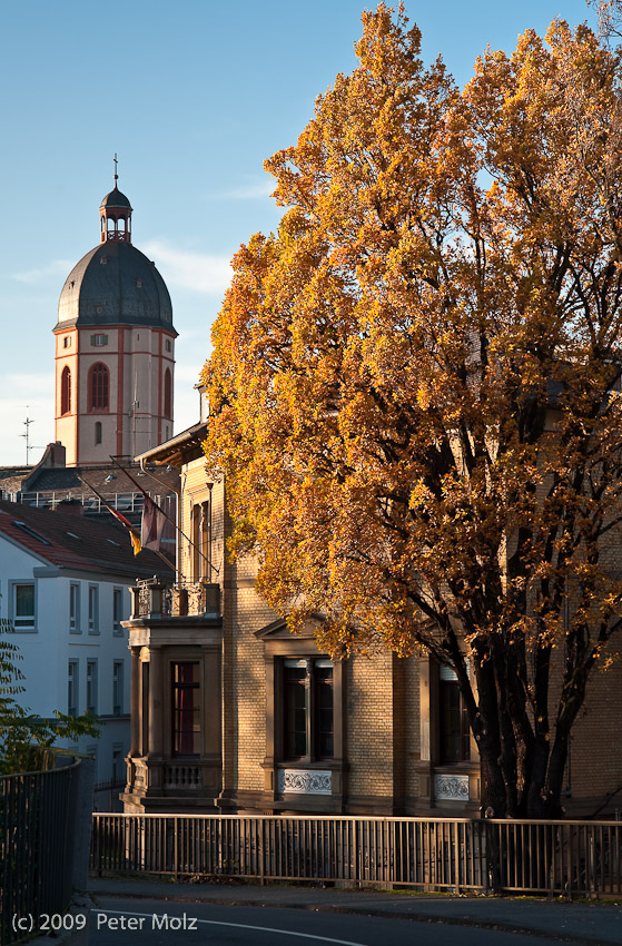
[{"label": "dark reddish pitched roof of the white house, with skylight", "polygon": [[128,531],[112,516],[101,521],[0,502],[2,535],[61,569],[113,573],[130,580],[157,574],[170,581],[174,577],[172,566],[167,569],[155,552],[145,550],[135,556]]}]

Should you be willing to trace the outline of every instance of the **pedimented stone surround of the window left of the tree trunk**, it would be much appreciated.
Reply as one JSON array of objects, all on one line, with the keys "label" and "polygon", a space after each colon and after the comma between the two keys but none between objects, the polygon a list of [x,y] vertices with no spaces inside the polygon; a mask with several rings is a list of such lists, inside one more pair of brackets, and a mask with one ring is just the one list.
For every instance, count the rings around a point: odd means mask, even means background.
[{"label": "pedimented stone surround of the window left of the tree trunk", "polygon": [[[264,791],[266,804],[269,801],[282,802],[282,807],[300,808],[313,807],[314,810],[339,811],[343,809],[345,797],[345,773],[347,762],[345,760],[345,667],[344,661],[336,660],[333,664],[333,709],[334,709],[334,756],[332,759],[318,761],[289,761],[283,758],[283,661],[287,658],[313,659],[317,657],[327,658],[317,648],[314,635],[314,627],[309,624],[300,634],[292,634],[287,630],[286,622],[280,619],[260,631],[255,637],[264,642],[264,658],[266,672],[266,755],[261,768],[264,769]],[[279,785],[284,782],[283,772],[293,771],[330,772],[332,792],[304,794],[279,791]],[[269,799],[269,801],[268,801]],[[283,802],[289,802],[285,806]]]}]

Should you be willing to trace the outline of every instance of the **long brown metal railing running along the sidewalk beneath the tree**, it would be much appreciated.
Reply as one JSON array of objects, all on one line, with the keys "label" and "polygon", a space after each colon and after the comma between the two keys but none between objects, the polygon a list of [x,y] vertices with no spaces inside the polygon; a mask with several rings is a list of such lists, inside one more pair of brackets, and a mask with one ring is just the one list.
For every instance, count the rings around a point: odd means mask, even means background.
[{"label": "long brown metal railing running along the sidewalk beneath the tree", "polygon": [[595,897],[622,822],[96,814],[91,869]]}]

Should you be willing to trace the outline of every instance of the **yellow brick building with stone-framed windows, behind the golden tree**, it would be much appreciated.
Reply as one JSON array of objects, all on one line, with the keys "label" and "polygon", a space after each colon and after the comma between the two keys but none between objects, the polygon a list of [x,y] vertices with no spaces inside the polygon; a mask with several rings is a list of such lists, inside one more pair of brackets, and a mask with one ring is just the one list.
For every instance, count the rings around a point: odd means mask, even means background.
[{"label": "yellow brick building with stone-framed windows, behind the golden tree", "polygon": [[[207,416],[142,460],[181,472],[177,581],[134,589],[126,811],[473,815],[477,752],[451,672],[391,653],[334,662],[292,635],[228,560],[226,484]],[[621,668],[598,672],[575,726],[566,811],[622,809]]]}]

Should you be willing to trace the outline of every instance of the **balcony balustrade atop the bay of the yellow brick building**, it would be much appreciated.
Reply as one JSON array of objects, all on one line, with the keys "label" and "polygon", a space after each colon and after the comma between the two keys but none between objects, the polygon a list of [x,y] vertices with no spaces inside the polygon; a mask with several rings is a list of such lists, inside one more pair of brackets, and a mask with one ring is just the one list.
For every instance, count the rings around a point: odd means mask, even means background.
[{"label": "balcony balustrade atop the bay of the yellow brick building", "polygon": [[130,620],[220,617],[220,587],[208,581],[164,584],[154,577],[137,581],[130,591]]}]

